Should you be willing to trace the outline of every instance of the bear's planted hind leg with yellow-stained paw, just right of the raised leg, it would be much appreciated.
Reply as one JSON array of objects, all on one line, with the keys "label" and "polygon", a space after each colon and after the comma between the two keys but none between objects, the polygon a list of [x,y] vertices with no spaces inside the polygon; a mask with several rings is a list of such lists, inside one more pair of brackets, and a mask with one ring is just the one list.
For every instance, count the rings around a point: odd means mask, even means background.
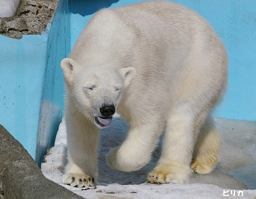
[{"label": "bear's planted hind leg with yellow-stained paw, just right of the raised leg", "polygon": [[196,134],[189,107],[173,111],[166,120],[163,149],[157,166],[147,175],[150,183],[188,183]]}]

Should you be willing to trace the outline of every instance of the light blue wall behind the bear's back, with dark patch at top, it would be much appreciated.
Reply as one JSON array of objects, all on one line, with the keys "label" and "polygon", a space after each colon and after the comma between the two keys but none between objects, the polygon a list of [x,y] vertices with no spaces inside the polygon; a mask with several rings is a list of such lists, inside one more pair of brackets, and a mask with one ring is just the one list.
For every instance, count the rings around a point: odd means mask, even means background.
[{"label": "light blue wall behind the bear's back, with dark patch at top", "polygon": [[[71,47],[97,9],[119,7],[140,0],[72,0]],[[215,116],[256,120],[256,1],[178,0],[207,19],[229,54],[229,89]]]}]

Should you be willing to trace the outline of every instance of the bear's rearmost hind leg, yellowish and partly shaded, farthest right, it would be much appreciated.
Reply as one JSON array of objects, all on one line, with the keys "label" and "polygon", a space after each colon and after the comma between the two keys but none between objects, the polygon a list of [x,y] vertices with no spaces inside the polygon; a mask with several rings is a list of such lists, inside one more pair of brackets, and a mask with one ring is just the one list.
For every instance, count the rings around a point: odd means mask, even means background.
[{"label": "bear's rearmost hind leg, yellowish and partly shaded, farthest right", "polygon": [[214,121],[209,116],[200,129],[198,139],[194,147],[191,170],[198,174],[208,174],[219,161],[221,149],[221,137],[214,126]]}]

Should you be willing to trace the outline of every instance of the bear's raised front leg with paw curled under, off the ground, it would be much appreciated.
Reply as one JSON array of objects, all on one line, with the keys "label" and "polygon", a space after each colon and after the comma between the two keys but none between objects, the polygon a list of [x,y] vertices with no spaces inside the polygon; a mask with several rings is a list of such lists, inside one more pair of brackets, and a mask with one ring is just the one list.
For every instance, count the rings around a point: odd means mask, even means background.
[{"label": "bear's raised front leg with paw curled under, off the ground", "polygon": [[154,121],[149,124],[131,127],[122,145],[107,154],[107,164],[113,169],[126,172],[139,170],[146,165],[151,159],[161,129]]}]

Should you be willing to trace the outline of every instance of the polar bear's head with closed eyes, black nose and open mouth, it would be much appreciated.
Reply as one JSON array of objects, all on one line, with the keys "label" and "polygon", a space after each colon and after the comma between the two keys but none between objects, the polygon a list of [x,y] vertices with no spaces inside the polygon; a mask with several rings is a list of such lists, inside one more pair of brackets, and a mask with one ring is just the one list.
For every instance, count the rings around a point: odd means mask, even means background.
[{"label": "polar bear's head with closed eyes, black nose and open mouth", "polygon": [[67,85],[77,108],[100,128],[111,124],[124,90],[135,77],[134,68],[116,69],[109,65],[79,65],[70,58],[61,62]]}]

